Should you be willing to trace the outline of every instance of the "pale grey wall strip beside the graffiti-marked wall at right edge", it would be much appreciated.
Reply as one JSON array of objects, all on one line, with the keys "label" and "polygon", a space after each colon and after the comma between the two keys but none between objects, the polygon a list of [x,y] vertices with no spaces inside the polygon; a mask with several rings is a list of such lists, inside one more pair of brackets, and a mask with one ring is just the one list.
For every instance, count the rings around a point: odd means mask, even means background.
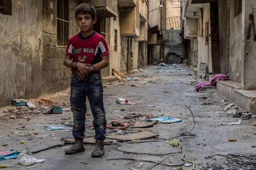
[{"label": "pale grey wall strip beside the graffiti-marked wall at right edge", "polygon": [[234,0],[230,1],[230,80],[241,83],[242,14],[234,16]]}]

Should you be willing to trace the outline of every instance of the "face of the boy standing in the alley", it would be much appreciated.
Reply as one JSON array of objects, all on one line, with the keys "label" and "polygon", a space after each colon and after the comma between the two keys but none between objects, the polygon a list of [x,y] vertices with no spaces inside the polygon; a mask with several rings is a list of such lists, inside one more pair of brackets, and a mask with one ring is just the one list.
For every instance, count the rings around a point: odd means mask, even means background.
[{"label": "face of the boy standing in the alley", "polygon": [[77,14],[76,21],[82,32],[88,32],[93,30],[97,18],[92,19],[90,14]]}]

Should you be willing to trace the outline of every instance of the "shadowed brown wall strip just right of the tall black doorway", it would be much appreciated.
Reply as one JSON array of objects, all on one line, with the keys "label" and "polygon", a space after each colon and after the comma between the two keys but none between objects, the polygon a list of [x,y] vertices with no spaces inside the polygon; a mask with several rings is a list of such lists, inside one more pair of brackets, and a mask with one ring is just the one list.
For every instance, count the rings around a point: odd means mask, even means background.
[{"label": "shadowed brown wall strip just right of the tall black doorway", "polygon": [[230,0],[218,0],[221,73],[229,72]]}]

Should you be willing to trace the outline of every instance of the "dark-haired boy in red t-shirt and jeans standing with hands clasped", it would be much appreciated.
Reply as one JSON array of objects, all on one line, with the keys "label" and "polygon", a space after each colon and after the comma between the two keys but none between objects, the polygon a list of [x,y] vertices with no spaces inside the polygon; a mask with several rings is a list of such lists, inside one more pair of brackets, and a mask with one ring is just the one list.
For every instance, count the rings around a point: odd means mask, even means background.
[{"label": "dark-haired boy in red t-shirt and jeans standing with hands clasped", "polygon": [[64,65],[71,68],[70,104],[74,117],[72,134],[75,144],[65,150],[67,154],[85,151],[86,96],[93,114],[95,128],[95,150],[92,157],[104,155],[104,139],[106,134],[106,116],[103,106],[103,86],[100,69],[108,66],[108,46],[103,36],[93,31],[96,23],[96,11],[90,4],[76,7],[76,21],[80,33],[69,38],[65,51]]}]

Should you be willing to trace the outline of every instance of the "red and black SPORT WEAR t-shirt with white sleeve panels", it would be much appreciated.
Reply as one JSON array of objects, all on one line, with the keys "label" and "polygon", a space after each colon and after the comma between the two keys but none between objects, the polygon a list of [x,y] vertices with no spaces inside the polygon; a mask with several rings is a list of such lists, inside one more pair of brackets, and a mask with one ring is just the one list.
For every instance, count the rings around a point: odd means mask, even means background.
[{"label": "red and black SPORT WEAR t-shirt with white sleeve panels", "polygon": [[95,31],[87,37],[80,33],[70,37],[65,51],[65,55],[72,57],[74,62],[86,64],[96,64],[108,54],[106,40]]}]

